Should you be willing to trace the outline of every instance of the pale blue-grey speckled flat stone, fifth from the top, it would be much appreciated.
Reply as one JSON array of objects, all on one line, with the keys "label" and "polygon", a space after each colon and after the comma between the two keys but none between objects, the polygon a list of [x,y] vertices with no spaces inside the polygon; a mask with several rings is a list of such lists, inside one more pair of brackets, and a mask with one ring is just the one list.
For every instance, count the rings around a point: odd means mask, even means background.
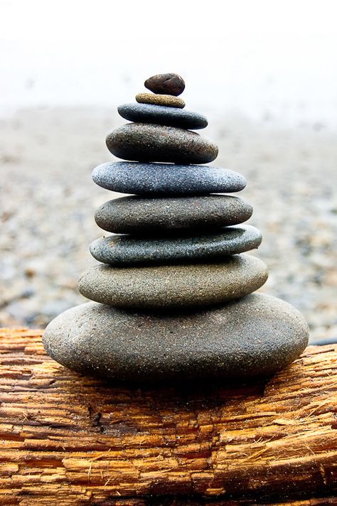
[{"label": "pale blue-grey speckled flat stone, fifth from the top", "polygon": [[205,195],[230,193],[245,188],[241,174],[207,165],[173,163],[102,163],[92,171],[102,188],[136,195]]}]

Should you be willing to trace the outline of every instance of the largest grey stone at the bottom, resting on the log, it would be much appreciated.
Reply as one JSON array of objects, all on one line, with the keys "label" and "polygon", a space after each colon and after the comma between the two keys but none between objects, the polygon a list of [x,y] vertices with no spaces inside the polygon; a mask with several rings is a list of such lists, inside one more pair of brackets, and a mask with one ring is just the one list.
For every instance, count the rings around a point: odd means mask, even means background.
[{"label": "largest grey stone at the bottom, resting on the log", "polygon": [[83,374],[127,382],[269,376],[306,348],[308,326],[262,294],[196,313],[134,313],[85,303],[45,330],[50,357]]}]

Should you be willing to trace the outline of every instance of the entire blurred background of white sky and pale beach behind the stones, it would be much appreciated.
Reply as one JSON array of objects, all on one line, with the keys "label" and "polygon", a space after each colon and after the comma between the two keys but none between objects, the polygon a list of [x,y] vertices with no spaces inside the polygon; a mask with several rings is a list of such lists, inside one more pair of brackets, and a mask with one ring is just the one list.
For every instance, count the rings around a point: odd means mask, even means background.
[{"label": "entire blurred background of white sky and pale beach behind the stones", "polygon": [[[244,174],[262,291],[299,308],[313,339],[337,336],[337,5],[0,0],[0,326],[44,326],[84,301],[91,171],[112,160],[117,105],[178,72],[208,117],[214,165]],[[201,133],[203,133],[201,132]],[[118,196],[118,195],[117,195]]]}]

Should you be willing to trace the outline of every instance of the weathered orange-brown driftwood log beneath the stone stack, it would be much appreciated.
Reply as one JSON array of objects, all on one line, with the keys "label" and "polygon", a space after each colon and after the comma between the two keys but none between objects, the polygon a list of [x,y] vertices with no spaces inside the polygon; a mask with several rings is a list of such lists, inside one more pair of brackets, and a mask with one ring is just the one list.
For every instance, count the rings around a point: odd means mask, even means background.
[{"label": "weathered orange-brown driftwood log beneath the stone stack", "polygon": [[127,388],[0,333],[0,505],[337,504],[337,349],[272,379]]}]

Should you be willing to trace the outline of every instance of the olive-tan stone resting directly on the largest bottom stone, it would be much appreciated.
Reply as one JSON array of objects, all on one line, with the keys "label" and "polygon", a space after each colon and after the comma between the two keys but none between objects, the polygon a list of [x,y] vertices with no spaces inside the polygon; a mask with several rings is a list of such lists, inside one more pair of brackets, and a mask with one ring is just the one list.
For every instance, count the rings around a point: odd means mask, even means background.
[{"label": "olive-tan stone resting directly on the largest bottom stone", "polygon": [[251,294],[267,281],[262,260],[242,253],[216,264],[112,267],[85,271],[80,293],[92,301],[126,308],[210,306]]}]

